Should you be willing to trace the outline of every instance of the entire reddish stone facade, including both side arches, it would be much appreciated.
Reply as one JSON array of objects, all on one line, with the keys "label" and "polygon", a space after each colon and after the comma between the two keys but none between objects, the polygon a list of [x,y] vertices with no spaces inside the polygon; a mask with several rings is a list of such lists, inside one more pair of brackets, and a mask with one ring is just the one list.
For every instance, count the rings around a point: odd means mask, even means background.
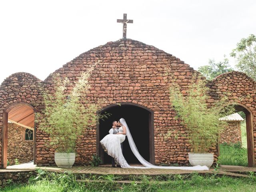
[{"label": "entire reddish stone facade, including both side arches", "polygon": [[[199,57],[200,58],[200,57]],[[174,164],[188,166],[188,152],[191,146],[187,139],[186,128],[175,118],[169,101],[170,78],[176,78],[181,92],[186,93],[192,77],[198,72],[179,58],[172,56],[154,46],[146,45],[131,39],[108,42],[88,52],[80,54],[72,61],[64,64],[54,73],[68,77],[75,82],[80,73],[100,60],[89,80],[90,90],[87,100],[97,102],[104,98],[102,107],[119,102],[135,103],[154,111],[154,154],[155,164]],[[44,67],[44,66],[42,66]],[[170,73],[166,72],[170,69]],[[2,138],[2,114],[5,108],[17,102],[30,104],[37,112],[44,107],[39,84],[45,84],[50,92],[54,92],[52,75],[41,81],[28,73],[15,73],[4,80],[0,87],[0,142]],[[227,92],[230,102],[239,102],[248,107],[253,114],[254,146],[256,150],[256,83],[241,72],[222,74],[208,82],[211,99],[220,99]],[[72,87],[70,87],[71,89]],[[182,136],[164,140],[168,130],[176,130]],[[96,126],[85,130],[77,142],[76,165],[88,165],[92,155],[96,154]],[[54,149],[45,145],[48,135],[36,131],[36,163],[39,166],[54,165]],[[0,144],[0,150],[1,150]],[[212,147],[214,157],[218,156],[216,147]],[[1,153],[0,153],[1,154]],[[1,156],[0,156],[1,158]]]}]

